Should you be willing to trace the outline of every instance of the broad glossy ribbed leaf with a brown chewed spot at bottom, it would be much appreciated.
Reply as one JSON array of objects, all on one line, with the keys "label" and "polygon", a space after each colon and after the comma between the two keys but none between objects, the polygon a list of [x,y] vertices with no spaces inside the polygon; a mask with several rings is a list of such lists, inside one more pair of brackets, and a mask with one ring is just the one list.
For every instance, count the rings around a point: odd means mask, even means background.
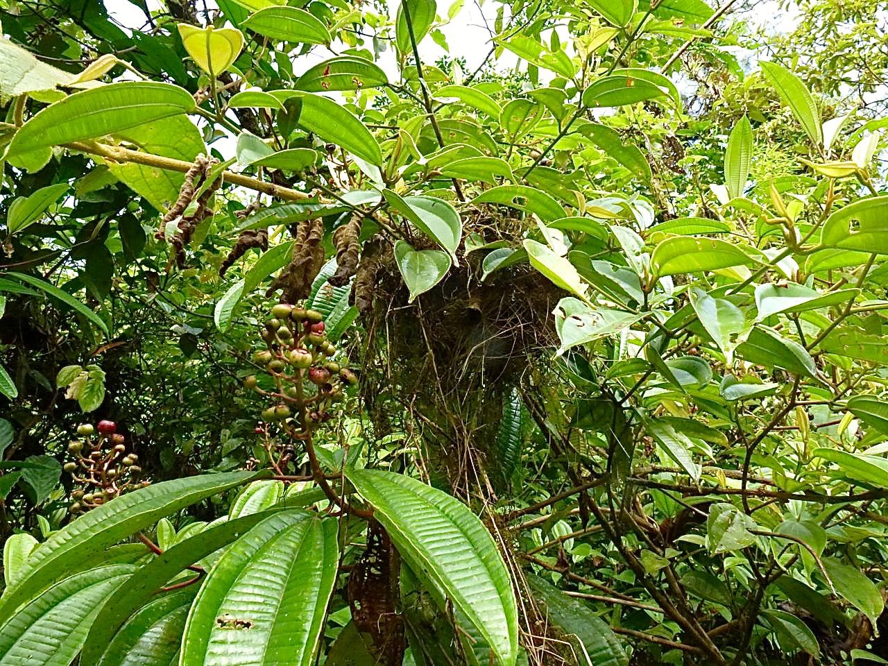
[{"label": "broad glossy ribbed leaf with a brown chewed spot at bottom", "polygon": [[337,578],[337,521],[281,511],[219,559],[194,599],[182,664],[307,666]]}]

